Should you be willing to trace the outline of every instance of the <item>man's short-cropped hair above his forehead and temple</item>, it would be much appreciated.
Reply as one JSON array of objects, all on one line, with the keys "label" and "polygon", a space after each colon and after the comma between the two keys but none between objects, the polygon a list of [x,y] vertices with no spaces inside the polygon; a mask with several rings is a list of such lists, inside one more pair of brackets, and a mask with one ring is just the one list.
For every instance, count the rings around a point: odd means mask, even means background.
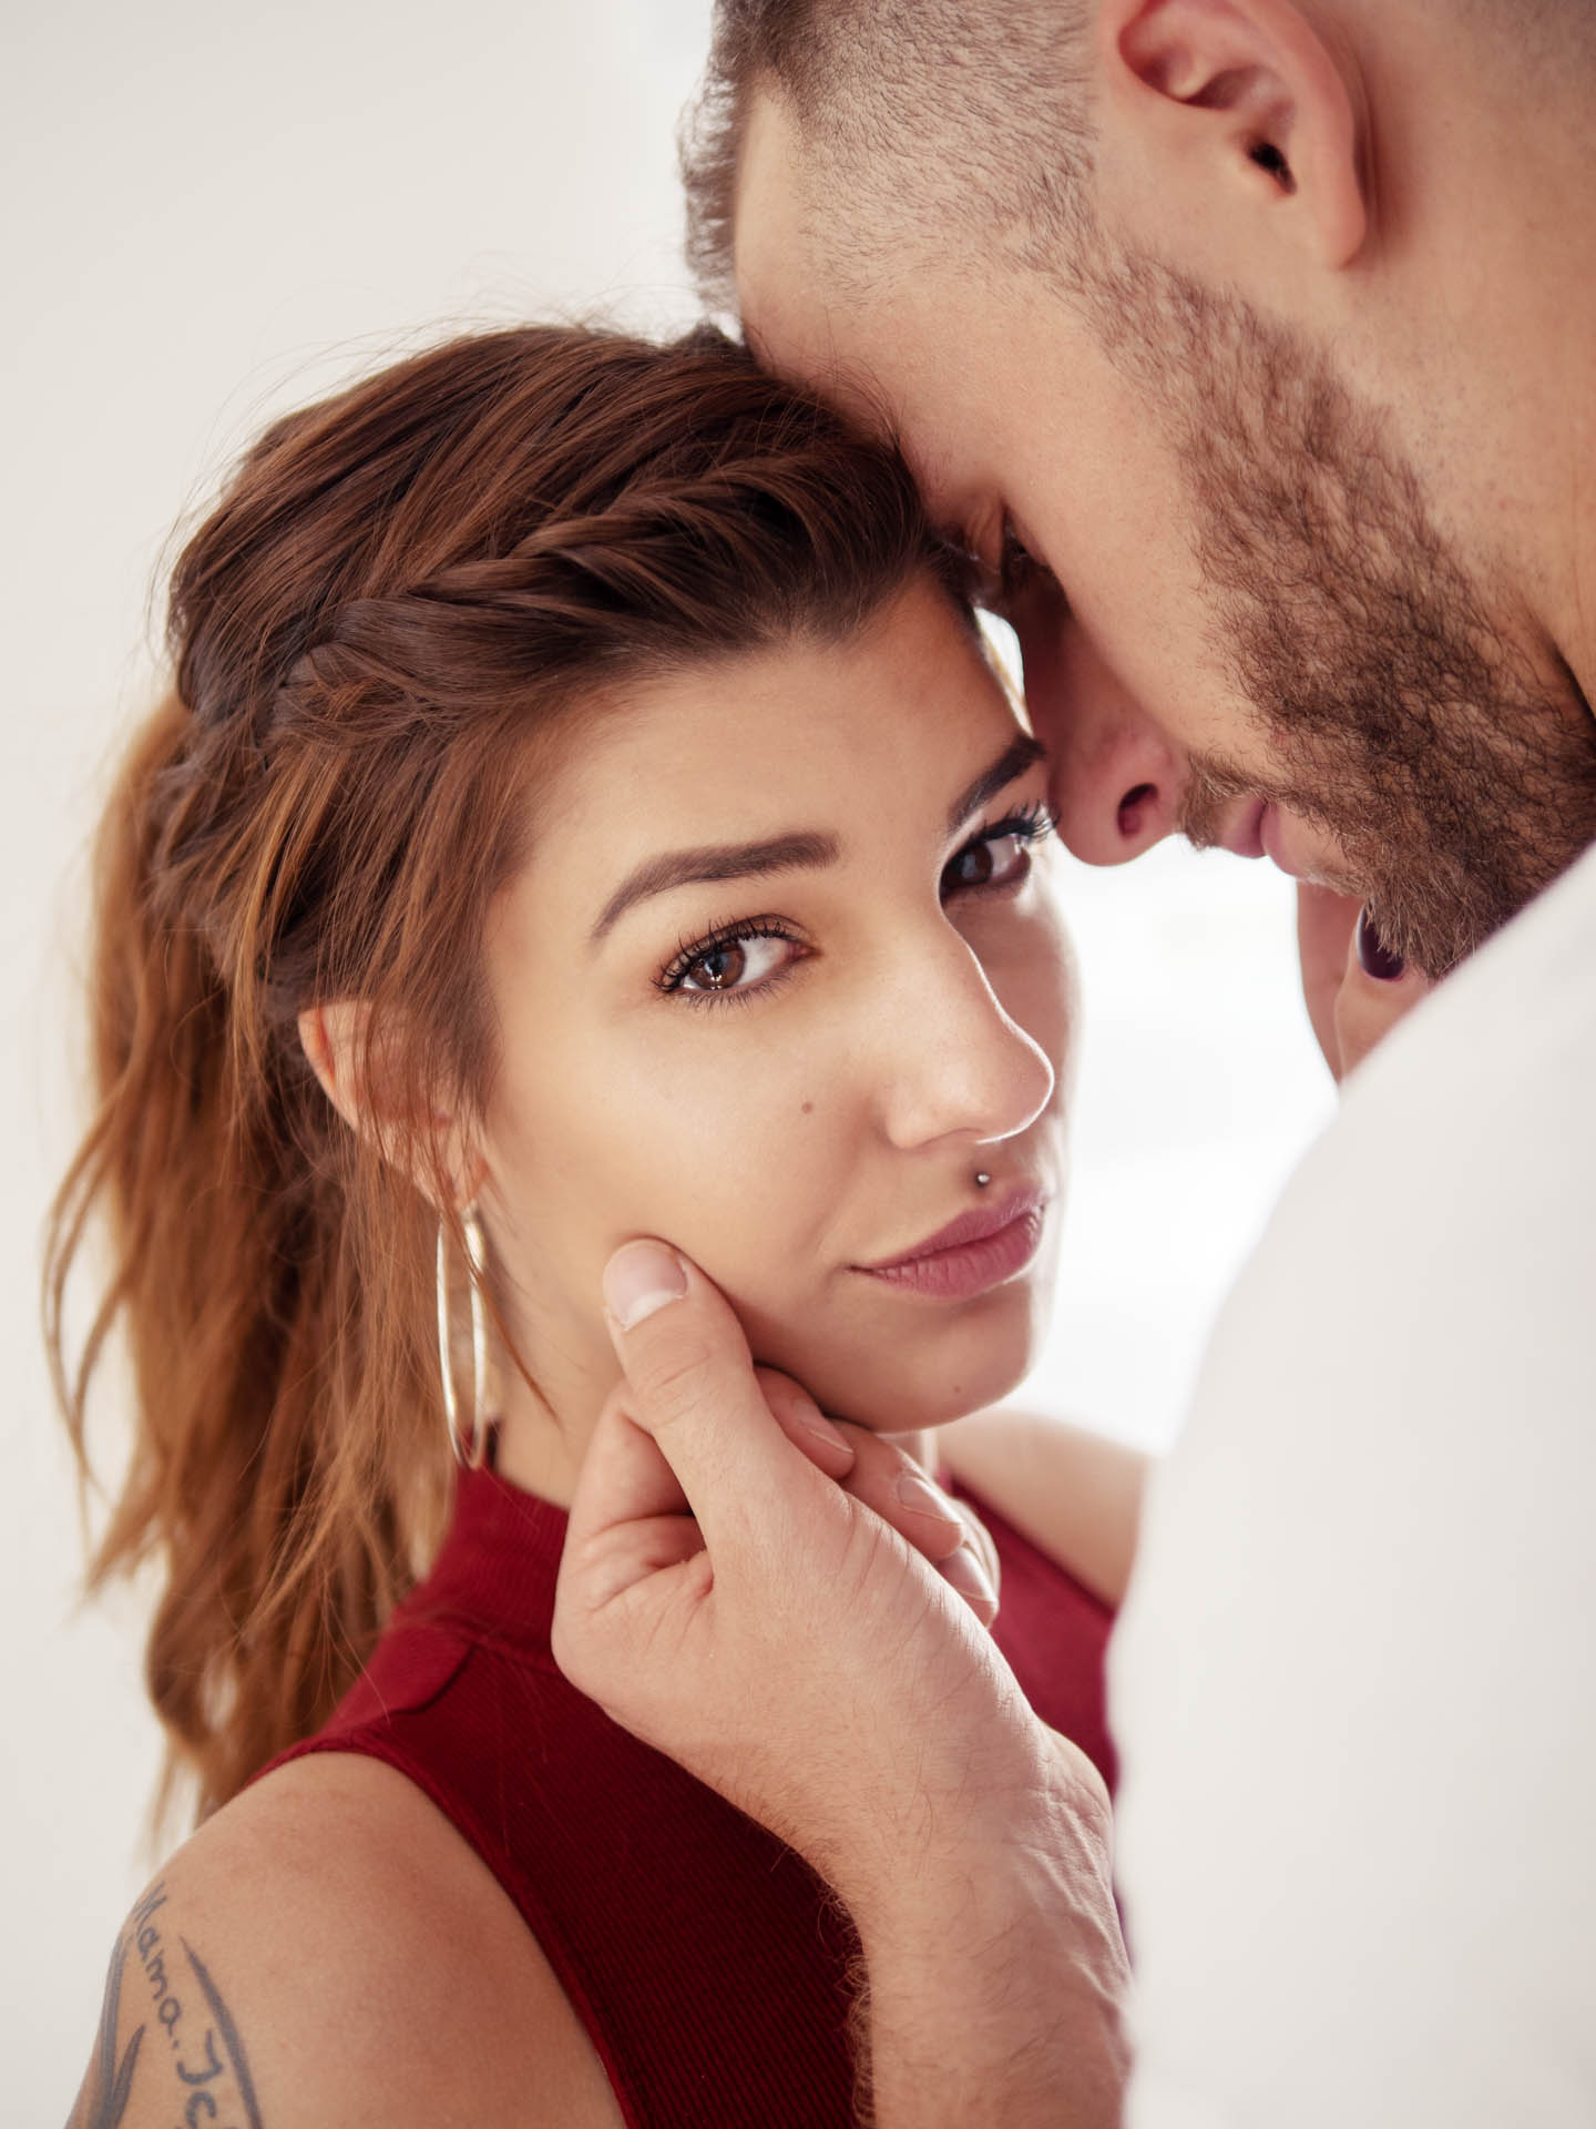
[{"label": "man's short-cropped hair above his forehead and temple", "polygon": [[777,96],[811,158],[834,264],[872,279],[904,249],[966,236],[1066,264],[1090,168],[1087,0],[717,0],[683,145],[687,258],[732,309],[736,177],[749,109]]}]

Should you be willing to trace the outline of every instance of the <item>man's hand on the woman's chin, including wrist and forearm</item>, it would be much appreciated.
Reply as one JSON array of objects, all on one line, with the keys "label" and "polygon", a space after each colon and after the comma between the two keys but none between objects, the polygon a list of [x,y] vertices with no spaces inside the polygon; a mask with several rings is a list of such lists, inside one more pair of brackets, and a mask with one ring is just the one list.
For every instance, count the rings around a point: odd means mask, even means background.
[{"label": "man's hand on the woman's chin, including wrist and forearm", "polygon": [[894,1505],[881,1480],[904,1473],[875,1460],[896,1450],[758,1375],[662,1243],[617,1252],[604,1294],[626,1382],[570,1509],[560,1667],[843,1895],[879,2129],[1107,2129],[1126,1961],[1096,1769],[1032,1714],[919,1524],[904,1541],[902,1503],[900,1526],[870,1505]]}]

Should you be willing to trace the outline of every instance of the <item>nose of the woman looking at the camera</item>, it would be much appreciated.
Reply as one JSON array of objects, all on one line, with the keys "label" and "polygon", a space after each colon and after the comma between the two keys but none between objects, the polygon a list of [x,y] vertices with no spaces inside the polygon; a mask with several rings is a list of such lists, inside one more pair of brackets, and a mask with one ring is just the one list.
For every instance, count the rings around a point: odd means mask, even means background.
[{"label": "nose of the woman looking at the camera", "polygon": [[1047,1052],[1009,1018],[951,926],[883,1007],[883,1120],[904,1152],[949,1137],[970,1148],[1013,1139],[1053,1099]]}]

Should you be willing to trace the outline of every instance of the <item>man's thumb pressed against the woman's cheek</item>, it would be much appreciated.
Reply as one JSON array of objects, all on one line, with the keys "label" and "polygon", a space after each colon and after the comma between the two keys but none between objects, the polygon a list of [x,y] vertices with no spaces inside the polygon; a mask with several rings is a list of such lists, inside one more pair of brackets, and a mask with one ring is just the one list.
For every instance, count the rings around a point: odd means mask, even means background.
[{"label": "man's thumb pressed against the woman's cheek", "polygon": [[[604,1305],[626,1371],[617,1399],[664,1452],[711,1550],[745,1526],[745,1503],[768,1531],[772,1505],[817,1473],[772,1418],[724,1294],[666,1243],[628,1241],[604,1269]],[[847,1448],[817,1409],[804,1424]]]}]

